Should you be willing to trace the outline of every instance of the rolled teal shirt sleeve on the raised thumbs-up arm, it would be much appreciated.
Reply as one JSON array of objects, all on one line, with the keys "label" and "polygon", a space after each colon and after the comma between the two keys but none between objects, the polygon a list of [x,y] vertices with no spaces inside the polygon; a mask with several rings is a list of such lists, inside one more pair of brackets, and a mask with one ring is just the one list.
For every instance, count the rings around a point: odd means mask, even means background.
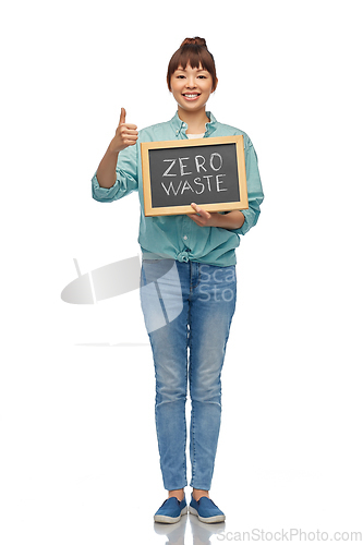
[{"label": "rolled teal shirt sleeve on the raised thumbs-up arm", "polygon": [[111,187],[101,187],[97,172],[92,179],[92,196],[100,203],[111,203],[138,189],[137,154],[138,144],[119,153],[116,167],[116,182]]}]

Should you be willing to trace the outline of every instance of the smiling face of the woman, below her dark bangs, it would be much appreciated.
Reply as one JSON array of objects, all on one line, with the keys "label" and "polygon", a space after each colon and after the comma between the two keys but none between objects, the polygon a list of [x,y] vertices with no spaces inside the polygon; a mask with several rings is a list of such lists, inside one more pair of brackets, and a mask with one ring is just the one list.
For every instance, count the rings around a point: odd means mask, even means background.
[{"label": "smiling face of the woman, below her dark bangs", "polygon": [[171,93],[180,108],[186,111],[199,111],[215,90],[213,78],[207,70],[199,64],[192,69],[186,64],[185,69],[179,66],[170,78]]}]

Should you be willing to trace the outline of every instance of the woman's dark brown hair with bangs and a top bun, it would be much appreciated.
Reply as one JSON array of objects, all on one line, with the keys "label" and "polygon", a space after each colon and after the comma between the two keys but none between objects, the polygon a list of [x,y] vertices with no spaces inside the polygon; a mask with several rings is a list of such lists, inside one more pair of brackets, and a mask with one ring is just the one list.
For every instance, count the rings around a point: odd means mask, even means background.
[{"label": "woman's dark brown hair with bangs and a top bun", "polygon": [[202,68],[209,72],[213,80],[213,88],[217,87],[217,74],[216,74],[216,64],[213,58],[211,52],[207,48],[207,44],[204,38],[195,37],[195,38],[185,38],[178,51],[171,57],[168,66],[167,74],[167,83],[168,88],[170,87],[170,80],[176,70],[181,66],[185,70],[186,64],[190,64],[192,69]]}]

